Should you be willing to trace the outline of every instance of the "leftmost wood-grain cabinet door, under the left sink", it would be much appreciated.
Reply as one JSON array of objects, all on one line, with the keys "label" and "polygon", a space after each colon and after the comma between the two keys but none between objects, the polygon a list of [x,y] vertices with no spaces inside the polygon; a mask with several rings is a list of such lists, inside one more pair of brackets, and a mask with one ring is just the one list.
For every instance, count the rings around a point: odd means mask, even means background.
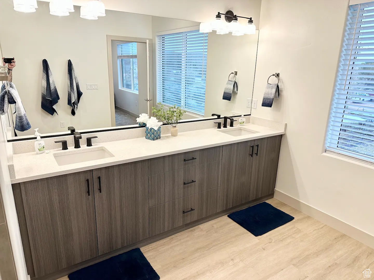
[{"label": "leftmost wood-grain cabinet door, under the left sink", "polygon": [[20,184],[36,277],[98,256],[91,170]]}]

